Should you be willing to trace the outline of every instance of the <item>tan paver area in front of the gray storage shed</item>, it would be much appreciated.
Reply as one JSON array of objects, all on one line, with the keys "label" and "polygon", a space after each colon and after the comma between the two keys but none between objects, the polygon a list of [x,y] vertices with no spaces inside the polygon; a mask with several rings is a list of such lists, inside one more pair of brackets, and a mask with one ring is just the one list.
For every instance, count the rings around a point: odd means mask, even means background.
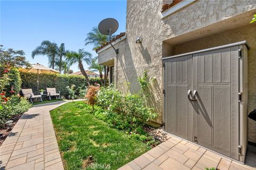
[{"label": "tan paver area in front of the gray storage shed", "polygon": [[[247,153],[249,155],[249,153]],[[205,169],[214,167],[219,170],[256,170],[256,154],[252,152],[246,158],[249,162],[242,165],[229,158],[215,154],[210,150],[170,135],[170,138],[149,150],[132,162],[119,168],[120,170],[134,169]],[[217,168],[218,167],[218,168]]]}]

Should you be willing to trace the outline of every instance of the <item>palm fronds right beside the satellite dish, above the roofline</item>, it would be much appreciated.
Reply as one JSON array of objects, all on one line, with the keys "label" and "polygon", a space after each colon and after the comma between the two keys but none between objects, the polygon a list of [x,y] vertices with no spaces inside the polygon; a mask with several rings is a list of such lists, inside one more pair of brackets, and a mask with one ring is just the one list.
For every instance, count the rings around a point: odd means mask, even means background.
[{"label": "palm fronds right beside the satellite dish, above the roofline", "polygon": [[97,49],[101,45],[107,43],[108,36],[100,33],[97,27],[93,27],[92,30],[87,33],[87,37],[85,39],[85,45],[93,44],[93,50]]}]

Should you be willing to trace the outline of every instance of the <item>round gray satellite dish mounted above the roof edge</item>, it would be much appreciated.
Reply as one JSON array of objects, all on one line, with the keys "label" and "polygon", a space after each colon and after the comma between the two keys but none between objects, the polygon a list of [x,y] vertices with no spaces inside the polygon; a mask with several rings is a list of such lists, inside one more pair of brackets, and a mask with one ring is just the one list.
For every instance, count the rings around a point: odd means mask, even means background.
[{"label": "round gray satellite dish mounted above the roof edge", "polygon": [[98,29],[103,35],[109,35],[109,30],[111,31],[110,34],[113,34],[118,29],[118,22],[114,18],[104,19],[100,21]]}]

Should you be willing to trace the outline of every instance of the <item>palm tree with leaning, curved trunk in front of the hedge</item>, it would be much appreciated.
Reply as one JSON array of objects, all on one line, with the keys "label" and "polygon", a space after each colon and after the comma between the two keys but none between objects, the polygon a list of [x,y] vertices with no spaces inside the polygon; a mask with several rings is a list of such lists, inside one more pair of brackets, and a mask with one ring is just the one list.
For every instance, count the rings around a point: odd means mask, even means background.
[{"label": "palm tree with leaning, curved trunk in front of the hedge", "polygon": [[71,65],[78,63],[78,68],[80,69],[81,73],[84,75],[87,84],[90,86],[90,80],[84,70],[83,61],[86,64],[90,65],[92,62],[92,54],[89,52],[86,52],[84,49],[78,49],[78,53],[77,52],[68,52],[67,59]]}]

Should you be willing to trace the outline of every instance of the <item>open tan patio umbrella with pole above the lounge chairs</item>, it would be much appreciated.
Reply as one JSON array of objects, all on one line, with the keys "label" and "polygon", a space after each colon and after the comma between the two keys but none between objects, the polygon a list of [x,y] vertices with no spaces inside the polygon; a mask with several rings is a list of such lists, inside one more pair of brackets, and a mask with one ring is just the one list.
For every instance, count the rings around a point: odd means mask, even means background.
[{"label": "open tan patio umbrella with pole above the lounge chairs", "polygon": [[39,93],[39,74],[41,73],[60,73],[59,71],[57,70],[53,70],[49,67],[46,67],[44,65],[41,65],[39,63],[36,63],[36,64],[32,64],[31,67],[29,68],[26,68],[26,67],[22,67],[19,69],[19,71],[22,71],[22,72],[30,72],[30,73],[37,73],[37,92]]}]

